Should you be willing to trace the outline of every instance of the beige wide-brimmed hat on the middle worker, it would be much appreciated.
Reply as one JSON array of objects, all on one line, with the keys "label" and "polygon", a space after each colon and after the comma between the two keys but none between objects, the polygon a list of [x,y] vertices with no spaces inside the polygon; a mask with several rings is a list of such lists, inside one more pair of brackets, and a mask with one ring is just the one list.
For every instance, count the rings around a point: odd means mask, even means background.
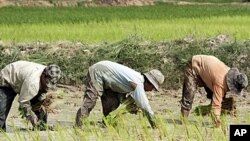
[{"label": "beige wide-brimmed hat on the middle worker", "polygon": [[160,85],[164,82],[164,75],[157,69],[153,69],[149,72],[144,73],[149,82],[155,87],[158,91]]}]

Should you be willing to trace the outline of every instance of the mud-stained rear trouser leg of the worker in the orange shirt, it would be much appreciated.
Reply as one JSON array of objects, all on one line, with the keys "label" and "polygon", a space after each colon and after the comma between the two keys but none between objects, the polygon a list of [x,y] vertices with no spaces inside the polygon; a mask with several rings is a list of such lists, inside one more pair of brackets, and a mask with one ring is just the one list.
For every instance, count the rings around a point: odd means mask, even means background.
[{"label": "mud-stained rear trouser leg of the worker in the orange shirt", "polygon": [[191,61],[189,61],[184,71],[184,83],[181,99],[181,113],[184,117],[188,117],[189,111],[192,109],[195,94],[194,92],[197,89],[198,78],[199,77],[192,70]]}]

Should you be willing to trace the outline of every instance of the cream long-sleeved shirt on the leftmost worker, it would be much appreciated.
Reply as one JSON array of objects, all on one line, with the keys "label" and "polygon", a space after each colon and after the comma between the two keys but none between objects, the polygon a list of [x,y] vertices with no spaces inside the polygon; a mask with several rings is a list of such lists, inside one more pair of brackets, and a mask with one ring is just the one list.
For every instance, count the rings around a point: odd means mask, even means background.
[{"label": "cream long-sleeved shirt on the leftmost worker", "polygon": [[30,101],[38,94],[40,77],[46,66],[33,62],[17,61],[4,67],[0,86],[10,86],[19,94],[20,104]]}]

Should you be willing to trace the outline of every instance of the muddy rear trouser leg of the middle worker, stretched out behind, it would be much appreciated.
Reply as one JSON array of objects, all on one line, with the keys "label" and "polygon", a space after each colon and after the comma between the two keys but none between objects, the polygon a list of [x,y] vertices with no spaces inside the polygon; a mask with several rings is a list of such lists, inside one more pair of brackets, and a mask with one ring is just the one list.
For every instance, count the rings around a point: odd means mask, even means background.
[{"label": "muddy rear trouser leg of the middle worker, stretched out behind", "polygon": [[88,74],[86,81],[86,91],[83,97],[83,104],[81,108],[78,109],[76,114],[76,126],[82,126],[82,120],[89,116],[91,110],[95,107],[98,98],[98,93],[91,82],[90,76]]}]

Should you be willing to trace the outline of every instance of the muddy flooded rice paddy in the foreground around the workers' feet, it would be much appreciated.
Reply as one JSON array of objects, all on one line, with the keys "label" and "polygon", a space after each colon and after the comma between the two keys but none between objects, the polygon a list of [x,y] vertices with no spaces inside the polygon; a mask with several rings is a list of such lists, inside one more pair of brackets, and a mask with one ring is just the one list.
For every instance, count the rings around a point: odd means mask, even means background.
[{"label": "muddy flooded rice paddy in the foreground around the workers' feet", "polygon": [[[204,93],[203,93],[204,94]],[[196,94],[194,106],[207,105],[209,101],[203,94]],[[32,131],[31,125],[21,119],[14,101],[7,122],[7,133],[0,133],[1,140],[6,141],[104,141],[104,140],[138,140],[138,141],[228,141],[229,124],[249,124],[249,98],[239,98],[238,116],[223,115],[222,128],[214,128],[210,116],[198,116],[191,113],[186,124],[182,124],[178,101],[180,91],[161,91],[148,93],[152,108],[156,112],[158,128],[151,129],[142,113],[125,114],[119,118],[115,127],[102,125],[101,102],[91,112],[82,129],[74,128],[75,114],[81,105],[82,91],[58,89],[55,95],[62,96],[55,102],[55,113],[49,114],[49,125],[55,125],[55,131]],[[17,100],[17,99],[16,99]],[[203,101],[203,102],[201,102]],[[248,102],[248,104],[247,104]],[[193,110],[192,110],[193,111]]]}]

